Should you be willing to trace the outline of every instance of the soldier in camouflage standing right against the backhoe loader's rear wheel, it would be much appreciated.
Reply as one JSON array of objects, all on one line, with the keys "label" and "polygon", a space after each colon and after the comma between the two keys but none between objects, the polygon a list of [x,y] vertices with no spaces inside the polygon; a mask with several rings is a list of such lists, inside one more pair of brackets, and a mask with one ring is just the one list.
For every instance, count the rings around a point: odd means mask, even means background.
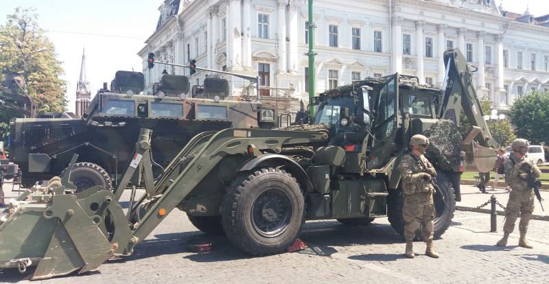
[{"label": "soldier in camouflage standing right against the backhoe loader's rear wheel", "polygon": [[402,218],[404,220],[404,237],[406,238],[406,257],[413,259],[412,249],[416,230],[421,225],[423,239],[427,242],[425,255],[438,258],[433,248],[434,187],[431,178],[436,176],[434,167],[423,156],[429,143],[427,137],[414,135],[410,139],[410,154],[402,157],[399,165],[401,172],[404,204]]}]

